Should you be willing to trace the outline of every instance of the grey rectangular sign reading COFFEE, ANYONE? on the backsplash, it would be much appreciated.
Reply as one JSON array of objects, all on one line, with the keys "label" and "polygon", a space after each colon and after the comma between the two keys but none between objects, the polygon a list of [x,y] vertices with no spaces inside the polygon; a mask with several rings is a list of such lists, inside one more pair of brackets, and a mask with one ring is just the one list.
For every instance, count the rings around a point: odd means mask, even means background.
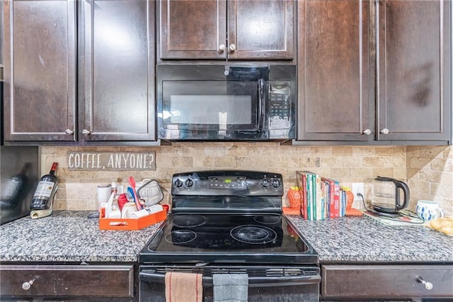
[{"label": "grey rectangular sign reading COFFEE, ANYONE? on the backsplash", "polygon": [[69,170],[156,170],[156,152],[67,152]]}]

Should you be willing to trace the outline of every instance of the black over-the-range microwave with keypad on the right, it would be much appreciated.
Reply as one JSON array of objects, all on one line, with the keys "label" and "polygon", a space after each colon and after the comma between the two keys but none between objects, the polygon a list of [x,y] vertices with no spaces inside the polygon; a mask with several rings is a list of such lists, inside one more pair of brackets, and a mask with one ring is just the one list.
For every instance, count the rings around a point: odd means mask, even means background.
[{"label": "black over-the-range microwave with keypad on the right", "polygon": [[161,140],[295,138],[295,65],[158,65]]}]

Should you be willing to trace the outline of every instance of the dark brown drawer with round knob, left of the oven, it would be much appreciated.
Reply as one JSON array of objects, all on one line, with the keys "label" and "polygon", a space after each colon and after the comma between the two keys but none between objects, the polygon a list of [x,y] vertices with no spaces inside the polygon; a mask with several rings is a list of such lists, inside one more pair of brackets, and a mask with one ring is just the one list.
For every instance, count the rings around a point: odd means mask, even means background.
[{"label": "dark brown drawer with round knob, left of the oven", "polygon": [[0,274],[1,296],[134,295],[132,265],[2,265]]}]

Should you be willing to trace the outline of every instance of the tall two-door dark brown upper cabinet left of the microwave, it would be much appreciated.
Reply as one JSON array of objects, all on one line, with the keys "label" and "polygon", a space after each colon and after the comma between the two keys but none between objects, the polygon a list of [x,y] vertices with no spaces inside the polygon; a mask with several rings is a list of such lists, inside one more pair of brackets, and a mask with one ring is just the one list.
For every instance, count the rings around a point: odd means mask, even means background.
[{"label": "tall two-door dark brown upper cabinet left of the microwave", "polygon": [[156,140],[154,1],[4,1],[4,18],[5,142]]}]

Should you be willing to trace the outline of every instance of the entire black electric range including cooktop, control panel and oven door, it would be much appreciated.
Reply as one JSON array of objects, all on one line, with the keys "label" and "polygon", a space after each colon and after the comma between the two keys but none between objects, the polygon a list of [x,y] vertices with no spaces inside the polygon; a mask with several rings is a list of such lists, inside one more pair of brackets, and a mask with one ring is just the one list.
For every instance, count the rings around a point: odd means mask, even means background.
[{"label": "entire black electric range including cooktop, control panel and oven door", "polygon": [[166,301],[166,276],[246,274],[248,301],[319,301],[318,254],[282,215],[282,175],[252,171],[174,174],[171,215],[139,254],[139,301]]}]

